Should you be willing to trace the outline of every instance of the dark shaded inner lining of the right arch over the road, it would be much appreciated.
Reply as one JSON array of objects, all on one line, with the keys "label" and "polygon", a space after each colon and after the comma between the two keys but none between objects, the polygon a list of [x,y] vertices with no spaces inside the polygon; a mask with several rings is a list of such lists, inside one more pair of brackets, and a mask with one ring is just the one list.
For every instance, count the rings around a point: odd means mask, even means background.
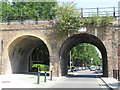
[{"label": "dark shaded inner lining of the right arch over the road", "polygon": [[92,44],[99,49],[102,56],[103,76],[108,77],[108,60],[107,60],[106,48],[99,38],[97,38],[94,35],[86,34],[86,33],[73,35],[63,43],[60,50],[62,76],[65,76],[68,73],[67,61],[70,60],[69,57],[70,50],[76,45],[83,43]]}]

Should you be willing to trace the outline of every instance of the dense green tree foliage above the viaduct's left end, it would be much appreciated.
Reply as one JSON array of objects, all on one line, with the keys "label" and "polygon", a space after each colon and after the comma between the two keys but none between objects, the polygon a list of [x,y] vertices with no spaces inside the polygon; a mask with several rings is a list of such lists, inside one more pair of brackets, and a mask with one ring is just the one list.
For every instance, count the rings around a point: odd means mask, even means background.
[{"label": "dense green tree foliage above the viaduct's left end", "polygon": [[[51,8],[56,2],[2,2],[2,20],[20,20],[21,16],[24,20],[35,19],[49,19]],[[55,14],[53,13],[53,16]]]}]

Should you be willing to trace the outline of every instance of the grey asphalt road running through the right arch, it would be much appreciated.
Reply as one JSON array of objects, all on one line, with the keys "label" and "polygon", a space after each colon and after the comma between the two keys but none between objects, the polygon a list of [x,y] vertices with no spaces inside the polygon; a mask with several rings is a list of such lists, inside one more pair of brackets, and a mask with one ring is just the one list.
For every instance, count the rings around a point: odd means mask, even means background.
[{"label": "grey asphalt road running through the right arch", "polygon": [[94,71],[82,70],[70,73],[62,81],[56,82],[50,88],[106,88],[105,84]]}]

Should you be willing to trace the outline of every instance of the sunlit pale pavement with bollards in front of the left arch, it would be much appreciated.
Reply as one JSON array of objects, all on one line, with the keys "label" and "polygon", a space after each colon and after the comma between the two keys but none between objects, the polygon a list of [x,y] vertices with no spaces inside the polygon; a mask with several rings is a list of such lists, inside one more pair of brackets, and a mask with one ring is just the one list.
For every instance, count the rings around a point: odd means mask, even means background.
[{"label": "sunlit pale pavement with bollards in front of the left arch", "polygon": [[40,83],[37,84],[37,75],[0,75],[0,90],[2,88],[47,88],[62,79],[64,79],[64,77],[53,77],[51,81],[50,77],[47,76],[46,82],[44,82],[44,76],[40,76]]}]

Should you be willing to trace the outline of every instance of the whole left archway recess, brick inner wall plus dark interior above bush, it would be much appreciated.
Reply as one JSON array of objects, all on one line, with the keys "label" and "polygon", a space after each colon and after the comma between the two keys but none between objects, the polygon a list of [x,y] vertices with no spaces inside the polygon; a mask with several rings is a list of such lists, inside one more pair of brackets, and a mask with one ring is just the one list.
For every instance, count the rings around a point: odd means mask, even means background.
[{"label": "whole left archway recess, brick inner wall plus dark interior above bush", "polygon": [[[41,59],[42,64],[49,65],[49,50],[40,38],[29,35],[18,37],[11,43],[8,50],[12,73],[34,71],[32,65],[41,64]],[[41,57],[41,54],[45,53],[47,56]]]}]

